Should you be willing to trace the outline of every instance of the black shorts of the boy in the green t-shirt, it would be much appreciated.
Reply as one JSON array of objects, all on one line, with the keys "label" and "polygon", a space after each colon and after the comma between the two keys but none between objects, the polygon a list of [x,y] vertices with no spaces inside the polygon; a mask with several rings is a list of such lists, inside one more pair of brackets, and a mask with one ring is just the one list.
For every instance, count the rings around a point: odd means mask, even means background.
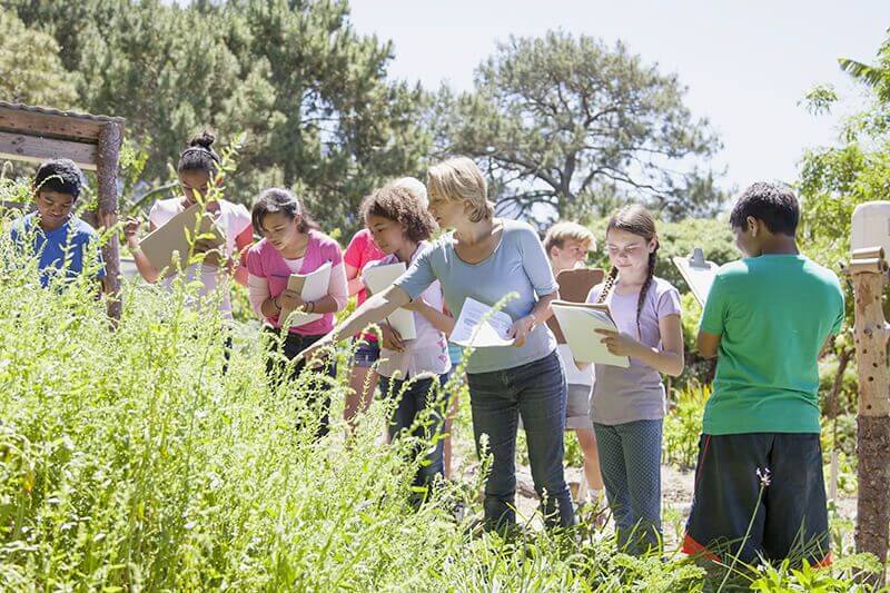
[{"label": "black shorts of the boy in the green t-shirt", "polygon": [[701,436],[683,552],[726,562],[740,544],[748,564],[759,556],[831,563],[818,434]]}]

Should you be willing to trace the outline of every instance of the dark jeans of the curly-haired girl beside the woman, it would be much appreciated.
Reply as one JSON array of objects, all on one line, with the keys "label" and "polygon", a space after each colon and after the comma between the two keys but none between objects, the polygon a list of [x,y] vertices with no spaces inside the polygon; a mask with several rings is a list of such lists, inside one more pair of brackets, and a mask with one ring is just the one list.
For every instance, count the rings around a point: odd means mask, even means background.
[{"label": "dark jeans of the curly-haired girl beside the woman", "polygon": [[[428,487],[436,475],[445,473],[442,458],[445,441],[442,433],[445,428],[445,414],[448,411],[448,395],[441,387],[447,380],[447,373],[419,379],[380,377],[379,385],[383,396],[398,398],[398,405],[393,411],[393,417],[389,421],[389,439],[394,439],[403,431],[409,436],[426,441],[436,439],[434,448],[426,455],[428,464],[422,464],[417,468],[417,474],[414,476],[415,486]],[[421,413],[427,408],[429,416],[424,418]],[[418,418],[418,416],[421,417]],[[415,457],[419,451],[418,447]]]}]

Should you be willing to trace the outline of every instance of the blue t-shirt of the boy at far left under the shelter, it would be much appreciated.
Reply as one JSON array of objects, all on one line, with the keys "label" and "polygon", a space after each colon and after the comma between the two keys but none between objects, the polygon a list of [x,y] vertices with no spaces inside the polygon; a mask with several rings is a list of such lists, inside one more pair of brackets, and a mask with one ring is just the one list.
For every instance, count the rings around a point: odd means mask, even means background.
[{"label": "blue t-shirt of the boy at far left under the shelter", "polygon": [[105,263],[99,250],[96,230],[76,216],[71,216],[59,228],[46,231],[28,214],[12,223],[12,241],[24,251],[39,258],[40,285],[49,286],[53,275],[65,273],[75,278],[83,271],[83,263],[92,258],[98,263],[97,278],[105,278]]}]

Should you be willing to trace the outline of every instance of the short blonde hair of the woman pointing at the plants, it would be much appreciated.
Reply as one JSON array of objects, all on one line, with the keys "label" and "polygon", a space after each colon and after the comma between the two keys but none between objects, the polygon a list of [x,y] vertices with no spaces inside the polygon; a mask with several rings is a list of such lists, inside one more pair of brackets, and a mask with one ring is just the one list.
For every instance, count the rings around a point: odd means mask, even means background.
[{"label": "short blonde hair of the woman pointing at the plants", "polygon": [[494,204],[487,199],[485,177],[476,164],[466,157],[448,159],[429,167],[426,186],[433,196],[468,205],[467,218],[473,223],[494,217]]}]

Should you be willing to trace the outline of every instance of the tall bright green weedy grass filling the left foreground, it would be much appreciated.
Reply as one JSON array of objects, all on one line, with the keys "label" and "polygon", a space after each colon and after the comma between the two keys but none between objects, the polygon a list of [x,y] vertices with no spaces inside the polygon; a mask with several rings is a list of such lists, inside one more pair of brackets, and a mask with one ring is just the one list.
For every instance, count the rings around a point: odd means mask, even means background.
[{"label": "tall bright green weedy grass filling the left foreground", "polygon": [[[376,442],[387,406],[375,403],[349,439],[335,421],[316,441],[317,411],[300,398],[308,377],[270,385],[250,327],[236,333],[224,374],[222,322],[212,307],[187,306],[195,286],[170,294],[126,283],[112,330],[91,280],[41,289],[36,264],[6,235],[0,258],[4,590],[710,591],[720,582],[675,553],[620,554],[586,525],[508,541],[479,534],[479,483],[445,485],[415,511],[422,461],[406,461],[412,443]],[[329,386],[334,417],[344,389]],[[471,508],[461,522],[451,512],[458,501]]]}]

